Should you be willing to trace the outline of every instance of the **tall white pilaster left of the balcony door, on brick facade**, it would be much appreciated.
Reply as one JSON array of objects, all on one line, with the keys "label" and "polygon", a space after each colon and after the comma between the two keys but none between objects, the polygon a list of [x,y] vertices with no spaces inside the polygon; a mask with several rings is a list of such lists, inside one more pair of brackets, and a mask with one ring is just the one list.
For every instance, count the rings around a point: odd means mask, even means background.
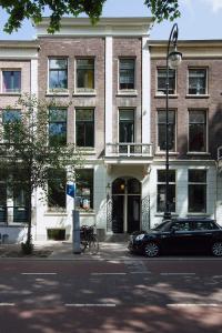
[{"label": "tall white pilaster left of the balcony door, on brick facade", "polygon": [[105,37],[105,143],[112,143],[112,37]]}]

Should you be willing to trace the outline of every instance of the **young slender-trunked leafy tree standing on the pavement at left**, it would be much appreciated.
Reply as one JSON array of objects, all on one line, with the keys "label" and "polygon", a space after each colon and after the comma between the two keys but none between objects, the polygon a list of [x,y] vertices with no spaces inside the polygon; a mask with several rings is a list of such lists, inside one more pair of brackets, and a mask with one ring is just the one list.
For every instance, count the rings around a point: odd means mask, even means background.
[{"label": "young slender-trunked leafy tree standing on the pavement at left", "polygon": [[[31,253],[33,249],[32,193],[39,188],[43,193],[48,193],[48,181],[52,173],[53,178],[56,174],[65,173],[65,182],[73,181],[77,176],[75,169],[80,168],[82,162],[75,145],[64,142],[62,131],[58,133],[58,128],[52,127],[49,135],[49,118],[58,117],[61,107],[67,105],[58,105],[53,99],[47,102],[26,94],[18,100],[16,108],[8,107],[2,111],[0,176],[1,180],[6,180],[13,198],[21,191],[24,196],[28,232],[22,250],[26,253]],[[65,191],[65,184],[62,191]]]}]

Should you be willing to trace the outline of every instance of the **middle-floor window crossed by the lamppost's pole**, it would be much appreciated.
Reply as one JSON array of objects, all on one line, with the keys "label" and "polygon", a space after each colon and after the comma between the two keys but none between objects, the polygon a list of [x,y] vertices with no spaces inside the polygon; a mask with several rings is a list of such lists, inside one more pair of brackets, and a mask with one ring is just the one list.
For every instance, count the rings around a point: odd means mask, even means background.
[{"label": "middle-floor window crossed by the lamppost's pole", "polygon": [[[175,151],[175,111],[169,110],[169,135],[168,147],[170,151]],[[158,150],[165,150],[165,111],[158,111]]]}]

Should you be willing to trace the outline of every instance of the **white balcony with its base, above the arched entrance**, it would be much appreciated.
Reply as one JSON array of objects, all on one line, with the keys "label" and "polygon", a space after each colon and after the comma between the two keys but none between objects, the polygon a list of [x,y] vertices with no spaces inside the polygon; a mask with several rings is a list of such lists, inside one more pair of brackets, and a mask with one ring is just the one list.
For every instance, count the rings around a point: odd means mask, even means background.
[{"label": "white balcony with its base, above the arched entrance", "polygon": [[153,158],[151,143],[107,143],[107,163],[141,164]]}]

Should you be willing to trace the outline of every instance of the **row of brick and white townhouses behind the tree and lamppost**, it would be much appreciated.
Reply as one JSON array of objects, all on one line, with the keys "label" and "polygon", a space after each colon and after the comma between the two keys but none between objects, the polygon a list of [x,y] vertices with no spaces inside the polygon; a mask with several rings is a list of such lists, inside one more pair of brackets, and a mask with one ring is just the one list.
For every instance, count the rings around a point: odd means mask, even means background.
[{"label": "row of brick and white townhouses behind the tree and lamppost", "polygon": [[[36,41],[0,43],[2,121],[6,104],[21,92],[53,97],[60,107],[49,110],[49,140],[56,133],[61,144],[72,142],[84,151],[75,193],[81,224],[97,224],[103,239],[160,223],[168,41],[150,40],[149,18],[102,18],[94,27],[85,18],[65,18],[53,36],[48,24],[46,18],[37,27]],[[178,49],[183,61],[170,71],[169,95],[171,212],[211,216],[222,224],[216,162],[222,41],[179,41]],[[33,193],[36,240],[71,239],[73,199],[59,193],[57,183],[54,174],[53,186],[49,180],[53,204],[39,200],[40,190]],[[0,232],[19,241],[24,221],[12,212],[24,208],[6,193],[2,181]]]}]

